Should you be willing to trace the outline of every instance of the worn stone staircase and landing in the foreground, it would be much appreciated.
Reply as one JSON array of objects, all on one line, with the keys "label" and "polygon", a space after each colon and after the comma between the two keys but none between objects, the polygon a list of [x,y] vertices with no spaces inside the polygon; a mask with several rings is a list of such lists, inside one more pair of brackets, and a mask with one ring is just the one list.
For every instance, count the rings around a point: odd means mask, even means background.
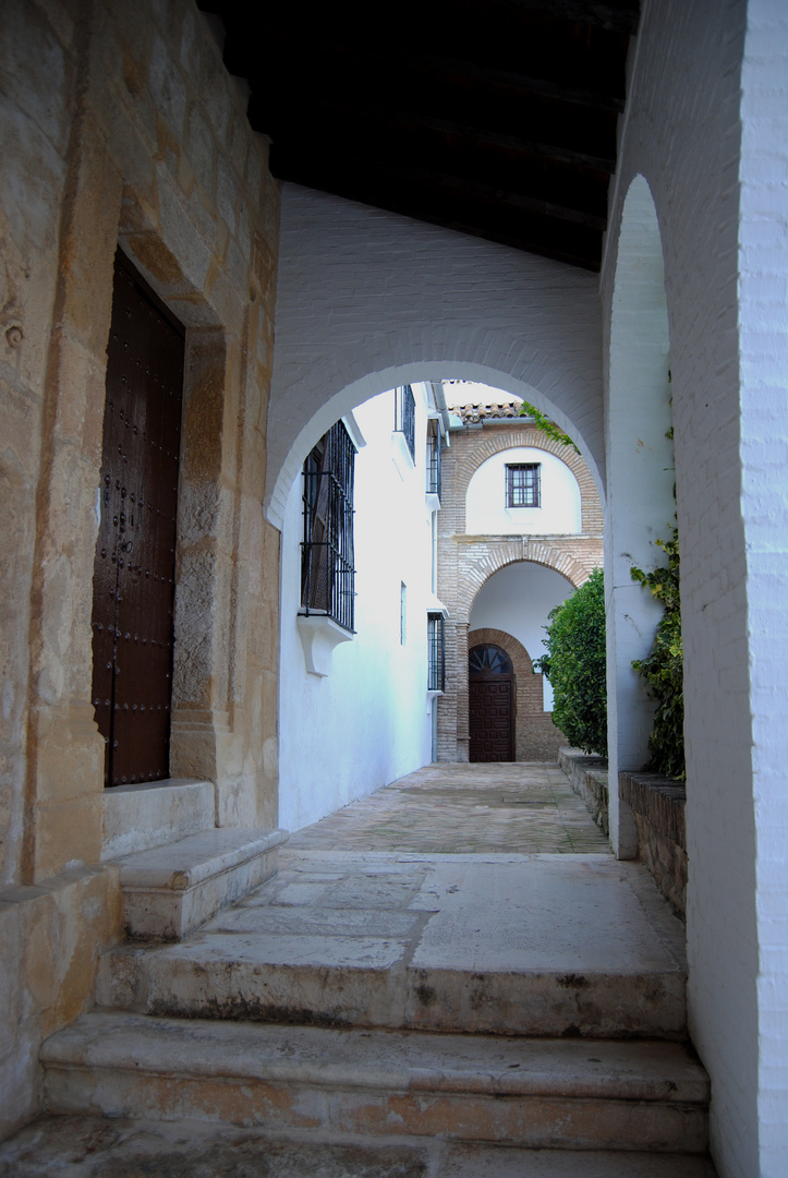
[{"label": "worn stone staircase and landing in the foreground", "polygon": [[266,1178],[713,1176],[681,926],[638,865],[280,865],[181,942],[106,955],[99,1006],[44,1045],[51,1124],[115,1126],[124,1160],[140,1133],[247,1150]]}]

